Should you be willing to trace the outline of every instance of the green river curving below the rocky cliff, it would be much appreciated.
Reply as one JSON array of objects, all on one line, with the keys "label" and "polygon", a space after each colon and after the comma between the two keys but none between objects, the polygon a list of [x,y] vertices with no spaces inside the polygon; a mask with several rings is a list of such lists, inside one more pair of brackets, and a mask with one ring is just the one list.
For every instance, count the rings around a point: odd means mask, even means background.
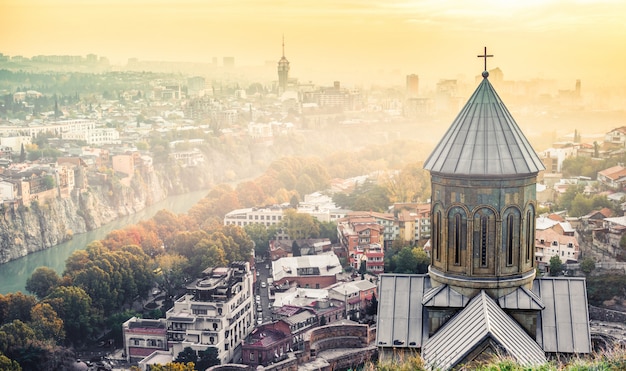
[{"label": "green river curving below the rocky cliff", "polygon": [[0,294],[21,291],[26,293],[26,280],[35,269],[46,266],[54,269],[61,275],[65,269],[65,260],[76,250],[84,249],[90,242],[101,240],[116,229],[137,224],[142,220],[152,218],[159,210],[169,210],[176,214],[186,213],[209,191],[196,191],[184,195],[170,196],[163,201],[139,211],[138,213],[122,217],[109,224],[87,233],[76,234],[72,240],[53,246],[49,249],[26,255],[20,259],[0,264]]}]

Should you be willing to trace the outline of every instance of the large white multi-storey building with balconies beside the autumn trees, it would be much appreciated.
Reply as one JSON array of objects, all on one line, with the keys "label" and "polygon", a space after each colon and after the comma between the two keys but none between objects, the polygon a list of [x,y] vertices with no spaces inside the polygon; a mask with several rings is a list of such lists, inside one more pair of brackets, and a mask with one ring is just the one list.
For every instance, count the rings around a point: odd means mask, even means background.
[{"label": "large white multi-storey building with balconies beside the autumn trees", "polygon": [[206,272],[187,286],[187,294],[174,302],[166,318],[172,354],[187,347],[196,352],[215,347],[221,363],[229,363],[254,329],[250,264],[234,262]]}]

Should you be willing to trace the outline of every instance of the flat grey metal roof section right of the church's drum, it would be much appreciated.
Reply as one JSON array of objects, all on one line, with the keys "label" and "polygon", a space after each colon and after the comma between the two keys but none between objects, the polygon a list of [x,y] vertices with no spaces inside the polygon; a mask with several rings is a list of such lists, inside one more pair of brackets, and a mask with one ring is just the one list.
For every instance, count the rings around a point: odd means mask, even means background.
[{"label": "flat grey metal roof section right of the church's drum", "polygon": [[545,308],[537,324],[537,341],[546,352],[590,353],[591,333],[585,279],[541,277],[533,292]]}]

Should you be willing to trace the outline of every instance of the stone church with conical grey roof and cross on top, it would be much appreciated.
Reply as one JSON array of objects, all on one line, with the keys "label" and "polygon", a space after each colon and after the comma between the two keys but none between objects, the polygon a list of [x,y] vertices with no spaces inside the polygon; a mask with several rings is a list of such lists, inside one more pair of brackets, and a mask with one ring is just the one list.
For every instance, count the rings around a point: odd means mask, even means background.
[{"label": "stone church with conical grey roof and cross on top", "polygon": [[590,353],[584,278],[537,277],[539,157],[482,81],[424,163],[430,172],[428,274],[383,274],[380,359],[419,352],[449,370],[493,355],[521,365]]}]

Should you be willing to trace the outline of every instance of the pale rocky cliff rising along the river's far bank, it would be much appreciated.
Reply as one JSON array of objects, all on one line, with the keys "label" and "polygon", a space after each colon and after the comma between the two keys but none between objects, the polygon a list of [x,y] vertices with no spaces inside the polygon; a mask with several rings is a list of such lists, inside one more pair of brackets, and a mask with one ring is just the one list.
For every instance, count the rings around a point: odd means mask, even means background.
[{"label": "pale rocky cliff rising along the river's far bank", "polygon": [[134,214],[169,195],[249,177],[259,171],[258,164],[251,161],[251,150],[238,147],[236,156],[228,156],[223,150],[209,149],[205,153],[208,160],[200,167],[169,161],[154,169],[138,170],[132,179],[92,175],[89,189],[72,192],[69,198],[17,208],[0,204],[0,264],[63,243],[74,234]]}]

